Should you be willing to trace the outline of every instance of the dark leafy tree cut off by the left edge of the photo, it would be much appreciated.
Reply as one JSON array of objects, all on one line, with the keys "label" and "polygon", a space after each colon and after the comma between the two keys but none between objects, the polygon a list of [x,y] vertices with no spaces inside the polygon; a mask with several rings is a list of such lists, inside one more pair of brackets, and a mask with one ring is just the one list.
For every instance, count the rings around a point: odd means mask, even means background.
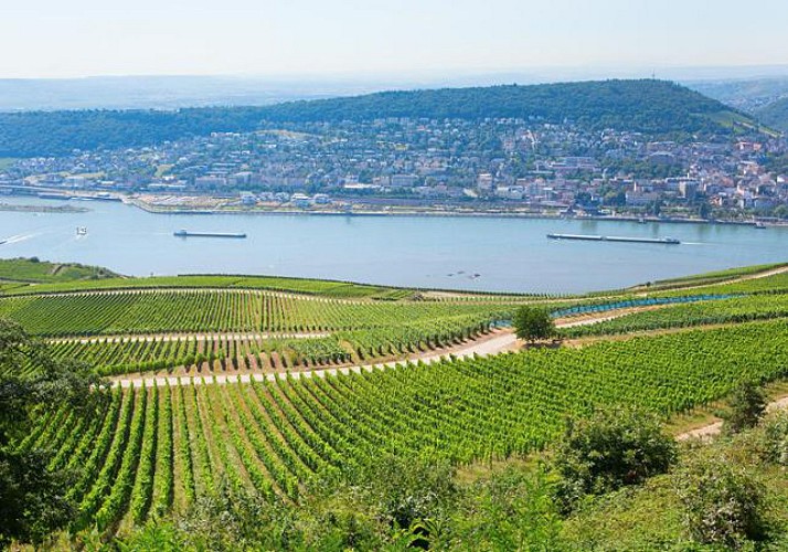
[{"label": "dark leafy tree cut off by the left edge of the photo", "polygon": [[93,392],[100,381],[86,365],[53,360],[19,325],[2,319],[0,374],[0,546],[40,542],[74,514],[65,499],[71,475],[47,469],[50,450],[17,445],[38,416],[63,404],[88,408],[105,394]]}]

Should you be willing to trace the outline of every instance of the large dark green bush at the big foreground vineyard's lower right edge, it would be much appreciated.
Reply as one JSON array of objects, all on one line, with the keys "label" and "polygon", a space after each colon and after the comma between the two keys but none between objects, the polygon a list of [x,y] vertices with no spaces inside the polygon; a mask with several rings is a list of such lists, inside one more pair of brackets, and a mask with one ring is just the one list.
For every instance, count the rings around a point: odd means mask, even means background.
[{"label": "large dark green bush at the big foreground vineyard's lower right edge", "polygon": [[673,439],[652,414],[622,408],[597,412],[569,423],[557,445],[553,468],[566,510],[586,495],[603,495],[665,473],[675,461]]}]

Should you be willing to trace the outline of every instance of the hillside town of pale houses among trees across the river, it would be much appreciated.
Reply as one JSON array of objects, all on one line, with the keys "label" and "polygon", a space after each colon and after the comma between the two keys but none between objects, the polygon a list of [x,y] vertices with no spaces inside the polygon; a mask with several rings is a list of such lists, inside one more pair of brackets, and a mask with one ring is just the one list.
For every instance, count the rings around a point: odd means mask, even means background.
[{"label": "hillside town of pale houses among trees across the river", "polygon": [[155,147],[18,159],[0,193],[124,198],[150,210],[456,211],[788,219],[784,136],[592,131],[565,121],[266,125]]}]

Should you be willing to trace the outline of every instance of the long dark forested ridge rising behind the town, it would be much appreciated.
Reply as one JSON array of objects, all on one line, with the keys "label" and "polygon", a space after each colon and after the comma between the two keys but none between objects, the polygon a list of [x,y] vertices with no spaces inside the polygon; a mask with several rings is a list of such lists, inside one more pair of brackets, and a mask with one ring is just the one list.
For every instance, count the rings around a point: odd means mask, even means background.
[{"label": "long dark forested ridge rising behind the town", "polygon": [[605,81],[532,86],[383,92],[265,107],[173,112],[84,110],[0,114],[0,157],[58,156],[74,149],[153,145],[217,131],[249,131],[262,121],[369,120],[387,117],[571,120],[593,129],[654,137],[730,131],[748,121],[723,104],[663,81]]}]

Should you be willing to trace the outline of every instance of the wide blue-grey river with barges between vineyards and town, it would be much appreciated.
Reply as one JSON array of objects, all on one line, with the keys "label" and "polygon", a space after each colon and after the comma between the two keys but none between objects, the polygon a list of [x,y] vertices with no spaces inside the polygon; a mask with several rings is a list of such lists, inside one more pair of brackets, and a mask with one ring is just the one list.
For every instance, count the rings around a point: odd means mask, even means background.
[{"label": "wide blue-grey river with barges between vineyards and town", "polygon": [[[0,211],[0,257],[106,266],[127,275],[267,274],[406,287],[577,293],[788,261],[788,229],[493,217],[150,214],[114,202],[87,213]],[[77,236],[85,226],[87,235]],[[175,237],[245,232],[246,240]],[[575,233],[675,237],[681,245],[547,240]]]}]

